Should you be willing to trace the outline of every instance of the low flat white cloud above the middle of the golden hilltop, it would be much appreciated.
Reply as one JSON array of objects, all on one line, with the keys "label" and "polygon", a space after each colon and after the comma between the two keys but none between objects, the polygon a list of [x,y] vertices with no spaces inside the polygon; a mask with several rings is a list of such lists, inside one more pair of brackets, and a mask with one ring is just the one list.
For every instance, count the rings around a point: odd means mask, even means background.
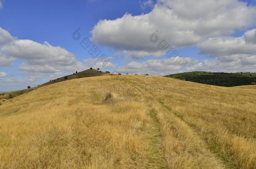
[{"label": "low flat white cloud above the middle of the golden hilltop", "polygon": [[186,66],[191,66],[199,62],[193,58],[181,58],[179,56],[173,58],[152,59],[143,63],[133,61],[126,66],[117,68],[114,72],[130,74],[148,73],[156,76],[164,76],[167,74],[180,72],[181,68],[183,68],[185,64],[181,65],[177,61],[182,61],[183,59],[186,61]]}]

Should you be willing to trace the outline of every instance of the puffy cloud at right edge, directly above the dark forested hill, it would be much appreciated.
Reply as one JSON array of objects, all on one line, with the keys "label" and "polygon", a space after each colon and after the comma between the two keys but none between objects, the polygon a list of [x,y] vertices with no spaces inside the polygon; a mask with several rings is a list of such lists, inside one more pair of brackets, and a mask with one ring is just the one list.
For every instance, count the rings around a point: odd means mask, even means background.
[{"label": "puffy cloud at right edge, directly above the dark forested hill", "polygon": [[[256,29],[249,30],[242,37],[209,38],[198,45],[202,54],[217,58],[217,61],[204,61],[188,70],[220,68],[221,70],[256,71]],[[255,39],[254,39],[255,38]],[[218,69],[217,69],[218,70]]]}]

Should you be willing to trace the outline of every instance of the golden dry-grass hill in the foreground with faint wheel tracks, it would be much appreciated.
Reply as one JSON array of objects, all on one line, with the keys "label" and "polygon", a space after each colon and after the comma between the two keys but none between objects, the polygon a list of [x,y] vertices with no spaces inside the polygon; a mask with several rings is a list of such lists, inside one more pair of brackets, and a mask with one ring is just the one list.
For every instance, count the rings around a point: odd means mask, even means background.
[{"label": "golden dry-grass hill in the foreground with faint wheel tracks", "polygon": [[1,103],[0,168],[253,169],[255,89],[157,76],[43,86]]}]

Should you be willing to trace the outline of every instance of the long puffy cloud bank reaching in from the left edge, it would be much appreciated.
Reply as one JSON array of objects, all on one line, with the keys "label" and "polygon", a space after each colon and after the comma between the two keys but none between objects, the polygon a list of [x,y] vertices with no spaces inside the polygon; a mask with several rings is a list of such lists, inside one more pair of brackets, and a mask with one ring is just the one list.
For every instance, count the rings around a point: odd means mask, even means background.
[{"label": "long puffy cloud bank reaching in from the left edge", "polygon": [[33,40],[19,40],[0,28],[0,66],[12,66],[16,58],[24,59],[18,68],[23,71],[54,73],[83,70],[83,63],[73,53],[60,46],[52,46]]}]

